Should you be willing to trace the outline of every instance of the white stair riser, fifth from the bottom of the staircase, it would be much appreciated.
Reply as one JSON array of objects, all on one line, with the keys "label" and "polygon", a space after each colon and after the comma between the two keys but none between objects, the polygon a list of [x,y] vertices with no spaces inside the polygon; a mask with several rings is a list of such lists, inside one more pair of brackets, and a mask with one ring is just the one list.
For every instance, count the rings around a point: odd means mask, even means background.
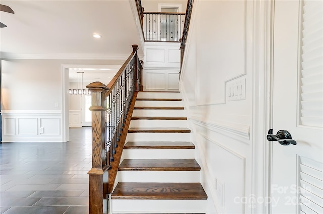
[{"label": "white stair riser, fifth from the bottom of the staircase", "polygon": [[130,128],[132,127],[187,127],[187,120],[131,120]]}]

